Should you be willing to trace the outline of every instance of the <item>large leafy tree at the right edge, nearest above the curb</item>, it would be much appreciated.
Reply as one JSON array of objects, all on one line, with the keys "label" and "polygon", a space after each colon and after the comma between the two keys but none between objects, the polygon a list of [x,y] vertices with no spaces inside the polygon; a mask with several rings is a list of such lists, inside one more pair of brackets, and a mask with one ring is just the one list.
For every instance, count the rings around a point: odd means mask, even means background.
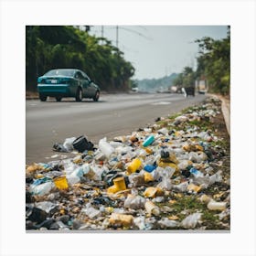
[{"label": "large leafy tree at the right edge, nearest above the curb", "polygon": [[197,77],[206,76],[209,91],[229,94],[230,85],[230,31],[222,40],[210,37],[197,39],[200,48],[197,58]]}]

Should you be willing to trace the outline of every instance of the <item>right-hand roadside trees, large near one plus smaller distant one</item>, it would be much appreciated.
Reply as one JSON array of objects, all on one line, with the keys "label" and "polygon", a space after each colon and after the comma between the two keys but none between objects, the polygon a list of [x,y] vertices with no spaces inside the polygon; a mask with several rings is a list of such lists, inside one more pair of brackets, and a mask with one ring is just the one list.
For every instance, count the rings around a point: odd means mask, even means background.
[{"label": "right-hand roadside trees, large near one plus smaller distant one", "polygon": [[191,86],[195,80],[207,80],[208,91],[229,95],[230,85],[230,28],[227,37],[214,40],[202,37],[198,44],[197,69],[185,67],[174,80],[175,86]]}]

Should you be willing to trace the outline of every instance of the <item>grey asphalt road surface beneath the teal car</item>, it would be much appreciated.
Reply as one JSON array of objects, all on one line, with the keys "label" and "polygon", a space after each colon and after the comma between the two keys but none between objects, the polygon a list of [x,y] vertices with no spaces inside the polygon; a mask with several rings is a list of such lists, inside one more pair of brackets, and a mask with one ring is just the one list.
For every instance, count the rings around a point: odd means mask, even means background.
[{"label": "grey asphalt road surface beneath the teal car", "polygon": [[53,144],[63,144],[66,138],[85,135],[98,144],[103,137],[111,140],[132,133],[155,123],[157,117],[179,112],[205,98],[133,93],[101,95],[98,102],[26,101],[26,163],[48,163],[67,155],[52,150]]}]

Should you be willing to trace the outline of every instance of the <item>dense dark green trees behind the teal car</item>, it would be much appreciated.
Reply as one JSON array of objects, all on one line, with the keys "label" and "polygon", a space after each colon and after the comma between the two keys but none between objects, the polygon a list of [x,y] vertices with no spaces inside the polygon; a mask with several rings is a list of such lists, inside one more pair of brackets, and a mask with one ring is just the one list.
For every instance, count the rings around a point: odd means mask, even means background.
[{"label": "dense dark green trees behind the teal car", "polygon": [[27,26],[27,91],[37,90],[37,77],[61,68],[84,70],[103,91],[128,90],[133,65],[109,40],[87,31],[70,26]]}]

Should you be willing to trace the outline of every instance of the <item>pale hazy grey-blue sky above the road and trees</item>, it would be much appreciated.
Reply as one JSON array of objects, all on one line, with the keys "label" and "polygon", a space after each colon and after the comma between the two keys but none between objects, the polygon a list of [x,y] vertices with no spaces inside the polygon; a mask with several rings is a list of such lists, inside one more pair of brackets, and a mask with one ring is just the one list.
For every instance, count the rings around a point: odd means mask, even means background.
[{"label": "pale hazy grey-blue sky above the road and trees", "polygon": [[[101,37],[101,26],[91,27],[91,35]],[[116,26],[103,26],[103,37],[116,46]],[[135,68],[133,79],[162,78],[196,69],[198,45],[195,39],[227,37],[227,26],[119,26],[118,47]]]}]

